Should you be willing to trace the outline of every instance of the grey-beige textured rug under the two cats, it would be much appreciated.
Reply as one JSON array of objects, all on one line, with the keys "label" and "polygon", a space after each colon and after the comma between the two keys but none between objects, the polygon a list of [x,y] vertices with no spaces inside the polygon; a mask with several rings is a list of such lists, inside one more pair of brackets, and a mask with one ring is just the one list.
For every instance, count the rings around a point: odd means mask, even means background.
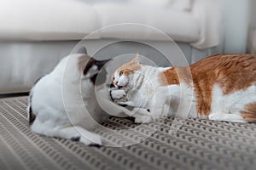
[{"label": "grey-beige textured rug under the two cats", "polygon": [[256,167],[255,123],[188,119],[177,133],[171,134],[173,118],[166,118],[160,125],[159,122],[140,125],[112,117],[97,127],[96,133],[102,134],[108,145],[119,147],[97,148],[32,133],[26,120],[26,100],[26,97],[0,100],[1,169]]}]

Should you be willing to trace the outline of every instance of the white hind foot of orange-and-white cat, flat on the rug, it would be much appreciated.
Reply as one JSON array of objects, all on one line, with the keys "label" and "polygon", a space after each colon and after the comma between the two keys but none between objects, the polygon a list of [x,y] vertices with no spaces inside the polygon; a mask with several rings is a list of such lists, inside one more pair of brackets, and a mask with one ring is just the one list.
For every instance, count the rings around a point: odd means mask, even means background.
[{"label": "white hind foot of orange-and-white cat, flat on the rug", "polygon": [[239,113],[211,113],[208,117],[214,121],[247,122]]}]

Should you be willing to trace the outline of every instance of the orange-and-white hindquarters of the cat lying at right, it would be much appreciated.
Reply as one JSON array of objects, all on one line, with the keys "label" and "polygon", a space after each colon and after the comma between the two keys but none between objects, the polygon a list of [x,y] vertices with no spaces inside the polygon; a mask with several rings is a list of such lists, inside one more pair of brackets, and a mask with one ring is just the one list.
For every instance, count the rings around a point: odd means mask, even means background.
[{"label": "orange-and-white hindquarters of the cat lying at right", "polygon": [[[190,65],[190,71],[193,77],[196,107],[200,115],[236,113],[241,116],[241,112],[245,111],[244,108],[248,105],[252,104],[252,107],[255,107],[255,55],[213,55]],[[250,112],[249,118],[245,114],[242,116],[248,122],[254,122],[255,111],[253,109]]]}]

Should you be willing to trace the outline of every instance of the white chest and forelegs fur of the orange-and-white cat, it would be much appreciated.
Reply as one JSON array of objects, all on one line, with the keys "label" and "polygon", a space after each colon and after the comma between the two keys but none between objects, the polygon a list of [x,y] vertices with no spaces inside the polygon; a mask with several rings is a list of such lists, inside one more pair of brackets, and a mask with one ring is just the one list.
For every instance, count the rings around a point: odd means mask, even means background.
[{"label": "white chest and forelegs fur of the orange-and-white cat", "polygon": [[[162,86],[160,72],[169,68],[157,68],[143,65],[128,77],[115,77],[115,81],[125,84],[128,101],[119,100],[119,104],[139,107],[134,116],[135,122],[151,122],[160,116],[197,117],[195,94],[185,83],[181,85]],[[119,75],[118,72],[114,73]],[[124,81],[124,82],[122,82]],[[116,94],[113,94],[116,95]],[[150,112],[145,111],[149,109]]]}]

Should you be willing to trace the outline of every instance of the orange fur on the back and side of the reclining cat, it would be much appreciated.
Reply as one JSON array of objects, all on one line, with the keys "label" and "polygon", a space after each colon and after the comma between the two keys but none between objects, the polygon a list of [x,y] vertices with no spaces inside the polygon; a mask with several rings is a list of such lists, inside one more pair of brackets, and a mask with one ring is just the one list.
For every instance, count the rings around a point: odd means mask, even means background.
[{"label": "orange fur on the back and side of the reclining cat", "polygon": [[191,71],[195,88],[197,111],[203,116],[211,112],[212,88],[215,83],[223,89],[224,94],[232,94],[256,83],[256,56],[251,54],[213,55],[189,67],[176,67],[163,71],[160,82],[163,86],[179,84],[181,81],[189,82],[188,69]]}]

